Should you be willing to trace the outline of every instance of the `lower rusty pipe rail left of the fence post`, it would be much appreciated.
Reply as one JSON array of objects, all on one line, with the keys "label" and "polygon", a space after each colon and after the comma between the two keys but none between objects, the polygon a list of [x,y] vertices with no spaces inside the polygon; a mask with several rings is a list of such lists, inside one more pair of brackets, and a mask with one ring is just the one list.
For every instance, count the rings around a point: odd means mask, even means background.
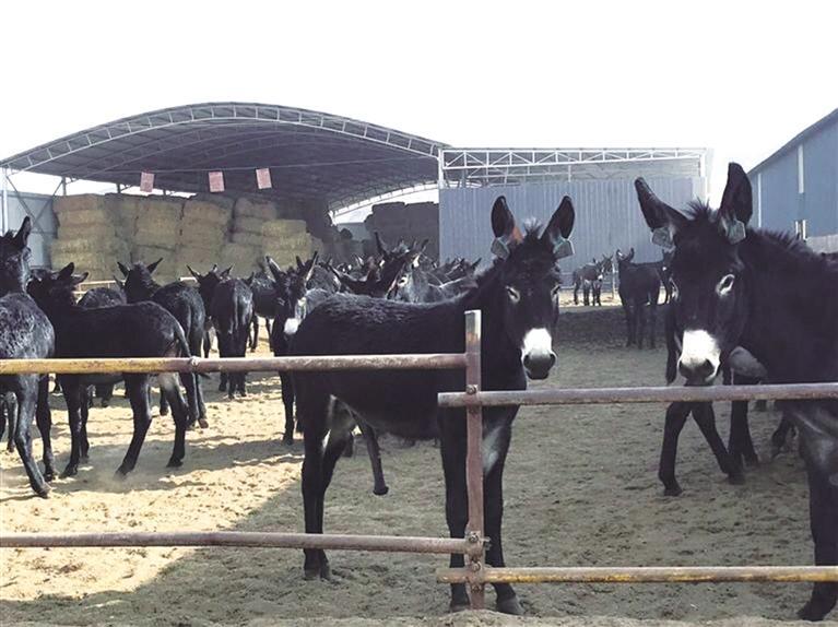
[{"label": "lower rusty pipe rail left of the fence post", "polygon": [[469,541],[461,537],[335,535],[269,531],[7,533],[0,535],[0,548],[104,546],[251,546],[440,554],[467,554],[471,551]]}]

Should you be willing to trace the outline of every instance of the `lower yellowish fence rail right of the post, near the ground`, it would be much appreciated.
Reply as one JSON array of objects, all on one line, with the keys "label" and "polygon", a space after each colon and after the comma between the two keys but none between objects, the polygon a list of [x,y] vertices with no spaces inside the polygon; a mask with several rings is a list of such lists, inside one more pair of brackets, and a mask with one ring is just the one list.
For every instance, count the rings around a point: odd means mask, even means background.
[{"label": "lower yellowish fence rail right of the post, near the ground", "polygon": [[437,570],[441,583],[719,583],[838,581],[838,566],[484,567]]}]

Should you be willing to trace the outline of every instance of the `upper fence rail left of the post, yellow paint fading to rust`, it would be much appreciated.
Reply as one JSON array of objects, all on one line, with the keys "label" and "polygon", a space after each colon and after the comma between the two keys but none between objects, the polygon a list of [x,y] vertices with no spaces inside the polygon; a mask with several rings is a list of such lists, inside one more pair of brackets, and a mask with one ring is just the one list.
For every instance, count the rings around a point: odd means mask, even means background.
[{"label": "upper fence rail left of the post, yellow paint fading to rust", "polygon": [[451,370],[464,368],[457,353],[415,355],[327,355],[315,357],[107,357],[0,359],[0,375],[86,375],[91,372],[257,372],[327,370]]}]

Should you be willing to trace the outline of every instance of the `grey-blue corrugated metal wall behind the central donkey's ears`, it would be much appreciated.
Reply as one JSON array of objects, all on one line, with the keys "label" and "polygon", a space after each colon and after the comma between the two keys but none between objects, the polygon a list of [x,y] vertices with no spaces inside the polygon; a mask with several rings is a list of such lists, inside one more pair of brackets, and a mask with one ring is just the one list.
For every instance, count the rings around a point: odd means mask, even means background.
[{"label": "grey-blue corrugated metal wall behind the central donkey's ears", "polygon": [[[704,180],[698,178],[650,177],[647,181],[662,200],[676,208],[684,206],[704,189]],[[649,228],[640,213],[634,181],[614,179],[441,189],[440,259],[489,259],[492,205],[500,194],[506,196],[509,209],[519,223],[535,217],[543,224],[553,215],[562,197],[570,197],[576,210],[576,223],[570,235],[576,255],[562,262],[565,272],[593,257],[612,255],[617,248],[626,251],[634,247],[637,261],[661,258],[661,249],[651,242]]]}]

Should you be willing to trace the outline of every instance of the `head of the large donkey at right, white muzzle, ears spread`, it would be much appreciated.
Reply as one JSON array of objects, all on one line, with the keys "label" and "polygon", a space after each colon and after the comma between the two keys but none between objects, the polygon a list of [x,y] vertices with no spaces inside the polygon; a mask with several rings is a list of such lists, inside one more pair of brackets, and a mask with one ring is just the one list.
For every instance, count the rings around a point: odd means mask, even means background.
[{"label": "head of the large donkey at right, white muzzle, ears spread", "polygon": [[746,275],[739,256],[751,220],[751,182],[731,163],[718,211],[692,203],[685,215],[635,181],[649,228],[674,245],[670,270],[675,323],[684,332],[678,369],[691,385],[708,385],[736,346],[747,316]]}]

